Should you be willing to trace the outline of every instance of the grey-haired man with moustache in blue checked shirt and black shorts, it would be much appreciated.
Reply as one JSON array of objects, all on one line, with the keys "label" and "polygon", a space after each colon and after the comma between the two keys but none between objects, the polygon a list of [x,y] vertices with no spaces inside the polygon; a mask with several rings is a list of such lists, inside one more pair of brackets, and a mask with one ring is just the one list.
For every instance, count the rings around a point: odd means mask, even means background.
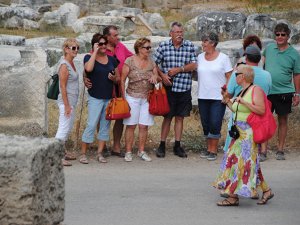
[{"label": "grey-haired man with moustache in blue checked shirt and black shorts", "polygon": [[166,138],[175,117],[174,154],[186,158],[187,154],[180,146],[184,117],[190,115],[192,109],[192,71],[196,69],[195,47],[192,42],[183,40],[183,26],[174,22],[170,30],[171,39],[160,43],[154,54],[158,73],[166,86],[170,112],[164,116],[161,128],[161,142],[156,151],[159,158],[165,157]]}]

